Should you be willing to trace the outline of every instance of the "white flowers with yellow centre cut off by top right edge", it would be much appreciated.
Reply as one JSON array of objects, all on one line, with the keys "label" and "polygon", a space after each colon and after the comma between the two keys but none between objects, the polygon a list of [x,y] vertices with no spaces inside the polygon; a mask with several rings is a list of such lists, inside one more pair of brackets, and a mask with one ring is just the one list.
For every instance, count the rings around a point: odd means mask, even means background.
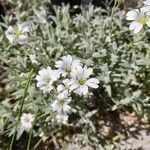
[{"label": "white flowers with yellow centre cut off by top right edge", "polygon": [[145,0],[142,8],[129,11],[126,20],[132,21],[129,29],[134,33],[139,33],[145,25],[150,27],[150,0]]}]

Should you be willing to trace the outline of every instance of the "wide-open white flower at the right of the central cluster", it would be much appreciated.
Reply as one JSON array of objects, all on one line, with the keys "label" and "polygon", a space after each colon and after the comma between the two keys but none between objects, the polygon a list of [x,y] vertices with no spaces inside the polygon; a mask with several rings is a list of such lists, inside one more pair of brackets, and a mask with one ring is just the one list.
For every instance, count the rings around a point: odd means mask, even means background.
[{"label": "wide-open white flower at the right of the central cluster", "polygon": [[89,78],[92,72],[93,70],[87,68],[87,66],[84,68],[78,66],[70,80],[70,89],[79,95],[86,95],[88,93],[88,87],[98,88],[99,80]]}]

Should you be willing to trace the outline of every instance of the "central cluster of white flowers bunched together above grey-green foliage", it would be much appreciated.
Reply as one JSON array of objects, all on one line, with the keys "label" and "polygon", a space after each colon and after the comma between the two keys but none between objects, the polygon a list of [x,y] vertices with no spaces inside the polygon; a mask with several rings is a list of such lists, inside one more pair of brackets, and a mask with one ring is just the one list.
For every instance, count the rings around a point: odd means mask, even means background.
[{"label": "central cluster of white flowers bunched together above grey-green foliage", "polygon": [[[44,68],[36,76],[37,87],[43,93],[50,93],[56,89],[56,100],[51,104],[52,110],[56,113],[58,122],[67,123],[68,114],[71,111],[69,103],[72,101],[72,92],[78,95],[86,95],[89,87],[98,88],[99,80],[90,78],[93,73],[92,68],[83,66],[78,59],[72,56],[63,56],[61,60],[56,61],[56,70],[50,67]],[[61,84],[55,84],[56,81],[62,81]],[[55,88],[55,85],[56,88]]]}]

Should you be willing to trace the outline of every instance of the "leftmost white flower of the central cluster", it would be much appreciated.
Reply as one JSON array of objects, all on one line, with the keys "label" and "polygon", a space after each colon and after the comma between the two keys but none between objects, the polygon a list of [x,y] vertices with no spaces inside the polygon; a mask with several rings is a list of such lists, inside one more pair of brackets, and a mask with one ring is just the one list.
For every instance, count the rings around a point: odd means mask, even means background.
[{"label": "leftmost white flower of the central cluster", "polygon": [[43,93],[49,93],[53,89],[53,82],[59,78],[59,74],[50,67],[44,68],[38,73],[39,75],[36,76],[37,87],[39,87]]}]

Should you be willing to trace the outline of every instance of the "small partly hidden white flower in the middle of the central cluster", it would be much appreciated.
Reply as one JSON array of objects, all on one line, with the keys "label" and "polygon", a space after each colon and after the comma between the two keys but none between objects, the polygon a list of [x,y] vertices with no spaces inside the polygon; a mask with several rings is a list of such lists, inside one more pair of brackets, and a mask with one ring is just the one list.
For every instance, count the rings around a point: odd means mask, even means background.
[{"label": "small partly hidden white flower in the middle of the central cluster", "polygon": [[64,95],[68,95],[70,92],[70,80],[65,79],[62,81],[63,84],[57,86],[58,98],[63,97]]}]

